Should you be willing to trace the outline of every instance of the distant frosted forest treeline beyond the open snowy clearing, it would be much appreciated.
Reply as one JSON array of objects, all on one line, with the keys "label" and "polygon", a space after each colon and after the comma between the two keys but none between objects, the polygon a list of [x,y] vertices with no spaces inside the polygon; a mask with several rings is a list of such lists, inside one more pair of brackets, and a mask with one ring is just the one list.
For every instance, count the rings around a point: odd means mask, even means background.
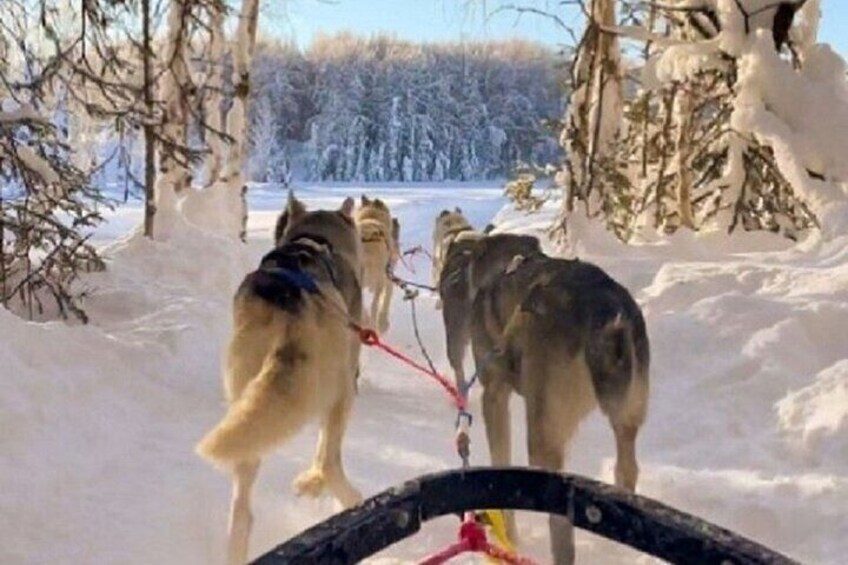
[{"label": "distant frosted forest treeline beyond the open snowy clearing", "polygon": [[253,61],[250,176],[479,180],[554,163],[564,73],[555,51],[527,41],[264,42]]}]

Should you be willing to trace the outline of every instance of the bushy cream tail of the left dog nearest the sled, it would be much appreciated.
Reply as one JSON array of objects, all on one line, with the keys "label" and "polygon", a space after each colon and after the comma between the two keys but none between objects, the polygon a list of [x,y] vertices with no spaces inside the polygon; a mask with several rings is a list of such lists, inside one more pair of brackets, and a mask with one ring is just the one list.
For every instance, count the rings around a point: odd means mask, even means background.
[{"label": "bushy cream tail of the left dog nearest the sled", "polygon": [[271,351],[223,420],[197,444],[198,455],[231,468],[261,458],[301,428],[309,415],[312,387],[299,382],[306,375],[302,356],[292,347],[288,344]]}]

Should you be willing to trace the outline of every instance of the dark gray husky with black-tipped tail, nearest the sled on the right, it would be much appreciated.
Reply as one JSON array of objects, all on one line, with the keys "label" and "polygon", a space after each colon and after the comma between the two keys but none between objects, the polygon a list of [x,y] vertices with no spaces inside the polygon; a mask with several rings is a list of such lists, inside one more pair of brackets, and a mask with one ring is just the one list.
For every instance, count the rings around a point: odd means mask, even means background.
[{"label": "dark gray husky with black-tipped tail, nearest the sled on the right", "polygon": [[[649,346],[631,295],[600,268],[518,258],[477,290],[472,351],[493,465],[510,463],[509,398],[524,398],[531,466],[559,471],[579,423],[600,405],[616,442],[616,485],[635,490],[636,435],[648,408]],[[571,523],[550,519],[556,563],[574,562]],[[508,515],[515,535],[515,522]]]}]

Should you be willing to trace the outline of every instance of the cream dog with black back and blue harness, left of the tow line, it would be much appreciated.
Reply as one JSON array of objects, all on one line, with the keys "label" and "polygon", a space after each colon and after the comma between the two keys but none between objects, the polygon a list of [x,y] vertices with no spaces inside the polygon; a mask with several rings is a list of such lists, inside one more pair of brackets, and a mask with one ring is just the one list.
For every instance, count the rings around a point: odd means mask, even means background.
[{"label": "cream dog with black back and blue harness, left of the tow line", "polygon": [[338,211],[308,212],[289,194],[276,247],[236,292],[224,366],[227,411],[197,446],[232,473],[229,565],[247,560],[251,489],[262,458],[309,420],[321,423],[318,446],[295,491],[328,490],[345,507],[362,499],[341,454],[360,349],[349,323],[362,315],[353,206],[348,198]]}]

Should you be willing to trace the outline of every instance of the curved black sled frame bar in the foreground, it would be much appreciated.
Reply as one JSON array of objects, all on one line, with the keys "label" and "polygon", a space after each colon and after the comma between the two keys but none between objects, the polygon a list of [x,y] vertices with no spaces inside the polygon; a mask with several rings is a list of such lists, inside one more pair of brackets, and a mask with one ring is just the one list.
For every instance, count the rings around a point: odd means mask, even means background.
[{"label": "curved black sled frame bar in the foreground", "polygon": [[514,467],[446,471],[407,481],[309,528],[253,563],[356,563],[415,534],[427,520],[482,509],[567,516],[575,527],[671,563],[797,565],[650,498],[576,475]]}]

